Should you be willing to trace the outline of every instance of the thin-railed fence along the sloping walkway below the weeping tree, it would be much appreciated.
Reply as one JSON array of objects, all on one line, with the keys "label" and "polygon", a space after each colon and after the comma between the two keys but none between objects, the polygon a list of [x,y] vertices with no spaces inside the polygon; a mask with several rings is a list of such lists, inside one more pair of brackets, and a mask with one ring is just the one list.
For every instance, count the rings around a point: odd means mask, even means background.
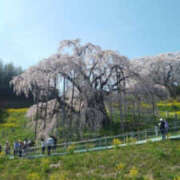
[{"label": "thin-railed fence along the sloping walkway below the weeping tree", "polygon": [[[167,136],[180,134],[180,121],[169,123]],[[126,145],[128,143],[136,143],[144,140],[153,140],[160,138],[161,133],[159,127],[155,126],[151,129],[146,129],[137,132],[128,132],[115,136],[106,136],[100,138],[93,138],[88,140],[81,140],[75,142],[64,142],[53,146],[51,149],[52,155],[63,155],[70,152],[87,152],[93,150],[103,150],[112,148],[113,145]],[[41,154],[41,146],[28,148],[24,156],[30,157],[32,155]]]}]

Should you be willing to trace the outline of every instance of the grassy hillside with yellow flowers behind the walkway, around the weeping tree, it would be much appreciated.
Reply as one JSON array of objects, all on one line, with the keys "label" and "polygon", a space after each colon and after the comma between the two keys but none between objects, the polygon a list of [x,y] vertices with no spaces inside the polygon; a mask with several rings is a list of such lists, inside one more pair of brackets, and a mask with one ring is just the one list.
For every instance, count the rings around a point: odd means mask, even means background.
[{"label": "grassy hillside with yellow flowers behind the walkway, around the weeping tree", "polygon": [[[148,106],[143,104],[143,106]],[[158,117],[157,120],[149,117],[150,115],[144,114],[139,120],[137,117],[136,124],[131,115],[128,115],[126,120],[127,130],[142,130],[144,128],[151,128],[159,123],[159,117],[167,119],[169,122],[180,119],[180,102],[177,101],[164,101],[157,104]],[[13,142],[15,139],[29,138],[33,139],[32,129],[26,126],[28,119],[24,116],[27,108],[19,109],[6,109],[0,110],[0,143],[6,140]],[[99,132],[94,132],[95,136],[116,135],[120,132],[120,115],[118,111],[114,111],[113,123],[106,129],[101,129]],[[92,137],[92,132],[84,132],[84,137]]]}]

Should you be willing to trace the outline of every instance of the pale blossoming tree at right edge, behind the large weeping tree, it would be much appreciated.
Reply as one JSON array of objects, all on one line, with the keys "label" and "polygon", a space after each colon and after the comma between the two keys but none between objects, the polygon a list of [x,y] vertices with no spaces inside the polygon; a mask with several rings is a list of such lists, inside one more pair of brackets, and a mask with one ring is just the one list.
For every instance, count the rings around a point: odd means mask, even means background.
[{"label": "pale blossoming tree at right edge, behind the large weeping tree", "polygon": [[164,86],[171,97],[176,96],[176,88],[180,84],[179,53],[145,57],[139,59],[138,66],[141,67],[141,77],[147,76],[155,85]]}]

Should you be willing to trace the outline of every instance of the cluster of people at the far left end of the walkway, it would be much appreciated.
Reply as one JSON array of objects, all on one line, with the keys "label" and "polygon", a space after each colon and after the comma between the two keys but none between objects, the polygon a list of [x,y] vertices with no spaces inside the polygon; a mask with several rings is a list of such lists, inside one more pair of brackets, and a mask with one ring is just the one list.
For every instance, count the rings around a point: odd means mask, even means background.
[{"label": "cluster of people at the far left end of the walkway", "polygon": [[[24,140],[24,141],[14,141],[13,143],[13,154],[14,156],[19,156],[22,157],[22,154],[27,153],[28,148],[33,145],[33,141],[31,140]],[[0,153],[3,151],[2,145],[0,145]],[[11,154],[11,145],[8,141],[6,141],[5,146],[4,146],[4,152],[6,155]]]}]

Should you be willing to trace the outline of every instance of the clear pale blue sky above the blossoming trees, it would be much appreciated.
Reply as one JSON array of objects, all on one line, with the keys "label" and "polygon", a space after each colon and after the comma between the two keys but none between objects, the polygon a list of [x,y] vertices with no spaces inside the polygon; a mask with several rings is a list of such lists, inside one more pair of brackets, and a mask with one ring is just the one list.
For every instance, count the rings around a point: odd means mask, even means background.
[{"label": "clear pale blue sky above the blossoming trees", "polygon": [[180,50],[180,0],[0,0],[0,58],[28,68],[80,38],[136,58]]}]

